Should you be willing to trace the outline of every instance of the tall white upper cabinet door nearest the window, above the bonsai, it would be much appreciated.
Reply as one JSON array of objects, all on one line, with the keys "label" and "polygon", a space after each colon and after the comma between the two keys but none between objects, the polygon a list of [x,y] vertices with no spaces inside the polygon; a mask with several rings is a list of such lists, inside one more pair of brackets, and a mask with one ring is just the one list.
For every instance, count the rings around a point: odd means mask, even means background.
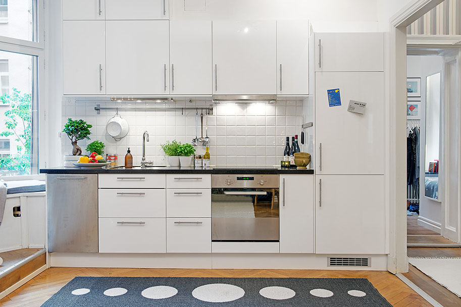
[{"label": "tall white upper cabinet door nearest the window, above the bonsai", "polygon": [[104,21],[63,21],[63,92],[106,94]]}]

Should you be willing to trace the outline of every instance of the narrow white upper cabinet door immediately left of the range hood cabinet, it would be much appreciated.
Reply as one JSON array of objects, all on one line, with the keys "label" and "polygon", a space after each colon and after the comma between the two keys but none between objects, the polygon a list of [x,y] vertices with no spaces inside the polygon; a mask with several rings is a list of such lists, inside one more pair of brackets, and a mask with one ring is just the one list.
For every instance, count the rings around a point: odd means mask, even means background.
[{"label": "narrow white upper cabinet door immediately left of the range hood cabinet", "polygon": [[170,70],[171,94],[212,94],[211,21],[170,21]]}]

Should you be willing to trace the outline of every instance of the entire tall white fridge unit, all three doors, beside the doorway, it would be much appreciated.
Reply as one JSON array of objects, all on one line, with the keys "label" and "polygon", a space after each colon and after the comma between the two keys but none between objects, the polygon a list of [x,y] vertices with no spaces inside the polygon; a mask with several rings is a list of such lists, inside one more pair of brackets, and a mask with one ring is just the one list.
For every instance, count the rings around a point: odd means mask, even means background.
[{"label": "entire tall white fridge unit, all three doors, beside the doorway", "polygon": [[[316,253],[384,254],[384,37],[315,34]],[[341,105],[330,106],[328,90]],[[349,101],[367,103],[364,114]]]}]

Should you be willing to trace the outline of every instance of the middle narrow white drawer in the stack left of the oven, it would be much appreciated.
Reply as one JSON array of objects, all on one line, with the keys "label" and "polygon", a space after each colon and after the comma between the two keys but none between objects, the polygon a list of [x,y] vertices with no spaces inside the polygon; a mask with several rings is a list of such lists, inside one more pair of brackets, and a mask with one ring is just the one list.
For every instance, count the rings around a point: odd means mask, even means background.
[{"label": "middle narrow white drawer in the stack left of the oven", "polygon": [[211,189],[167,189],[167,217],[211,217]]}]

